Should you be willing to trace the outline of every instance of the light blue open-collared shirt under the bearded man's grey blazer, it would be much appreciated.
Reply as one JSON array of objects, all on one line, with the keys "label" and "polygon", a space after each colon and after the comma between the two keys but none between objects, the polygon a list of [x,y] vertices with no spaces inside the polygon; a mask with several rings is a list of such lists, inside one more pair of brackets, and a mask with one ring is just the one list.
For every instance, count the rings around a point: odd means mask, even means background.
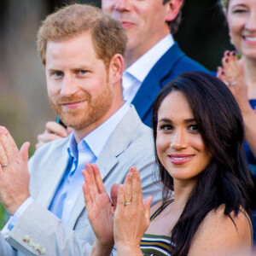
[{"label": "light blue open-collared shirt under the bearded man's grey blazer", "polygon": [[49,211],[61,218],[64,224],[67,225],[75,202],[82,191],[84,163],[96,162],[108,138],[129,109],[129,104],[125,103],[122,108],[119,108],[116,113],[91,131],[79,143],[76,142],[73,134],[70,137],[69,147],[67,148],[69,164],[49,206]]}]

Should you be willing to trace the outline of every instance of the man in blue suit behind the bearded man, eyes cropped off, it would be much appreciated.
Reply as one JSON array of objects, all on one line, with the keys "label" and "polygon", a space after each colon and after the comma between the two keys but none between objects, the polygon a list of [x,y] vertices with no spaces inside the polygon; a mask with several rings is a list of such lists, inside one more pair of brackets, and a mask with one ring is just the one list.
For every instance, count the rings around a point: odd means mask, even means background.
[{"label": "man in blue suit behind the bearded man, eyes cropped off", "polygon": [[[143,123],[151,126],[153,102],[160,89],[179,73],[203,71],[179,49],[172,34],[177,32],[183,0],[102,0],[102,10],[119,20],[128,42],[125,51],[123,95],[131,102]],[[48,122],[38,136],[37,148],[68,130]]]}]

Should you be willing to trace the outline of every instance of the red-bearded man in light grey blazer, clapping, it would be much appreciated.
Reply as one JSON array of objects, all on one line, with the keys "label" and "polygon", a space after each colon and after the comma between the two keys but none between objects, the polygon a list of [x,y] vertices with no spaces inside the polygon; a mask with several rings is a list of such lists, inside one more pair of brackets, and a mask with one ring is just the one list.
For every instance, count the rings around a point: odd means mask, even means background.
[{"label": "red-bearded man in light grey blazer, clapping", "polygon": [[117,188],[110,192],[111,186],[124,183],[131,166],[141,172],[143,195],[160,200],[151,130],[122,96],[125,44],[119,22],[87,5],[67,6],[44,20],[38,51],[49,102],[73,132],[39,148],[27,165],[29,143],[19,152],[0,127],[0,201],[11,215],[0,255],[90,254],[85,162],[99,166],[113,205]]}]

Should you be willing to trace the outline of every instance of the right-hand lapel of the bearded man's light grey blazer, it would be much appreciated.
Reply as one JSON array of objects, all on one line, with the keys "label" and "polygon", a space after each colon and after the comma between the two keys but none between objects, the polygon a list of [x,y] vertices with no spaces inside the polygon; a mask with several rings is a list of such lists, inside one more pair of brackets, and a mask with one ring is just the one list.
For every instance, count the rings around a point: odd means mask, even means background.
[{"label": "right-hand lapel of the bearded man's light grey blazer", "polygon": [[[121,154],[125,148],[128,147],[131,142],[131,137],[137,130],[137,125],[141,125],[135,108],[132,106],[125,117],[120,121],[119,125],[113,131],[113,134],[109,137],[108,142],[102,149],[101,154],[96,160],[96,165],[99,167],[102,175],[102,180],[108,177],[109,172],[119,162],[117,156]],[[84,210],[84,195],[81,189],[79,198],[76,201],[76,205],[71,214],[71,218],[68,222],[68,228],[73,229],[79,215]]]}]

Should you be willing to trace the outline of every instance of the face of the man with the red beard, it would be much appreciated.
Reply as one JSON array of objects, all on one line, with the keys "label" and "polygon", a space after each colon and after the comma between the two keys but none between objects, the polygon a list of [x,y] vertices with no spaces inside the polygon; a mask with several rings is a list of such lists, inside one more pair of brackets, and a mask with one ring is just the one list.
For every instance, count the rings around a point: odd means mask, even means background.
[{"label": "face of the man with the red beard", "polygon": [[49,41],[45,64],[49,102],[65,125],[75,130],[97,126],[113,103],[108,71],[90,33]]}]

